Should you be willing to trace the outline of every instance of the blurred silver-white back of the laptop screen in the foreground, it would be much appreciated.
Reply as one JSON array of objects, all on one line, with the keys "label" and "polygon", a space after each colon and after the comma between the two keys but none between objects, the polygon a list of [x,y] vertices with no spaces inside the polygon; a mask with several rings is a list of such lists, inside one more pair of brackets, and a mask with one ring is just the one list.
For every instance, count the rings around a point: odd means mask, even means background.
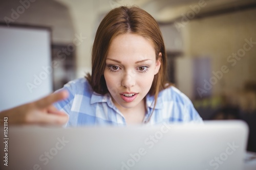
[{"label": "blurred silver-white back of the laptop screen in the foreground", "polygon": [[2,136],[0,167],[241,170],[247,137],[248,127],[240,120],[127,127],[9,126],[7,136]]}]

